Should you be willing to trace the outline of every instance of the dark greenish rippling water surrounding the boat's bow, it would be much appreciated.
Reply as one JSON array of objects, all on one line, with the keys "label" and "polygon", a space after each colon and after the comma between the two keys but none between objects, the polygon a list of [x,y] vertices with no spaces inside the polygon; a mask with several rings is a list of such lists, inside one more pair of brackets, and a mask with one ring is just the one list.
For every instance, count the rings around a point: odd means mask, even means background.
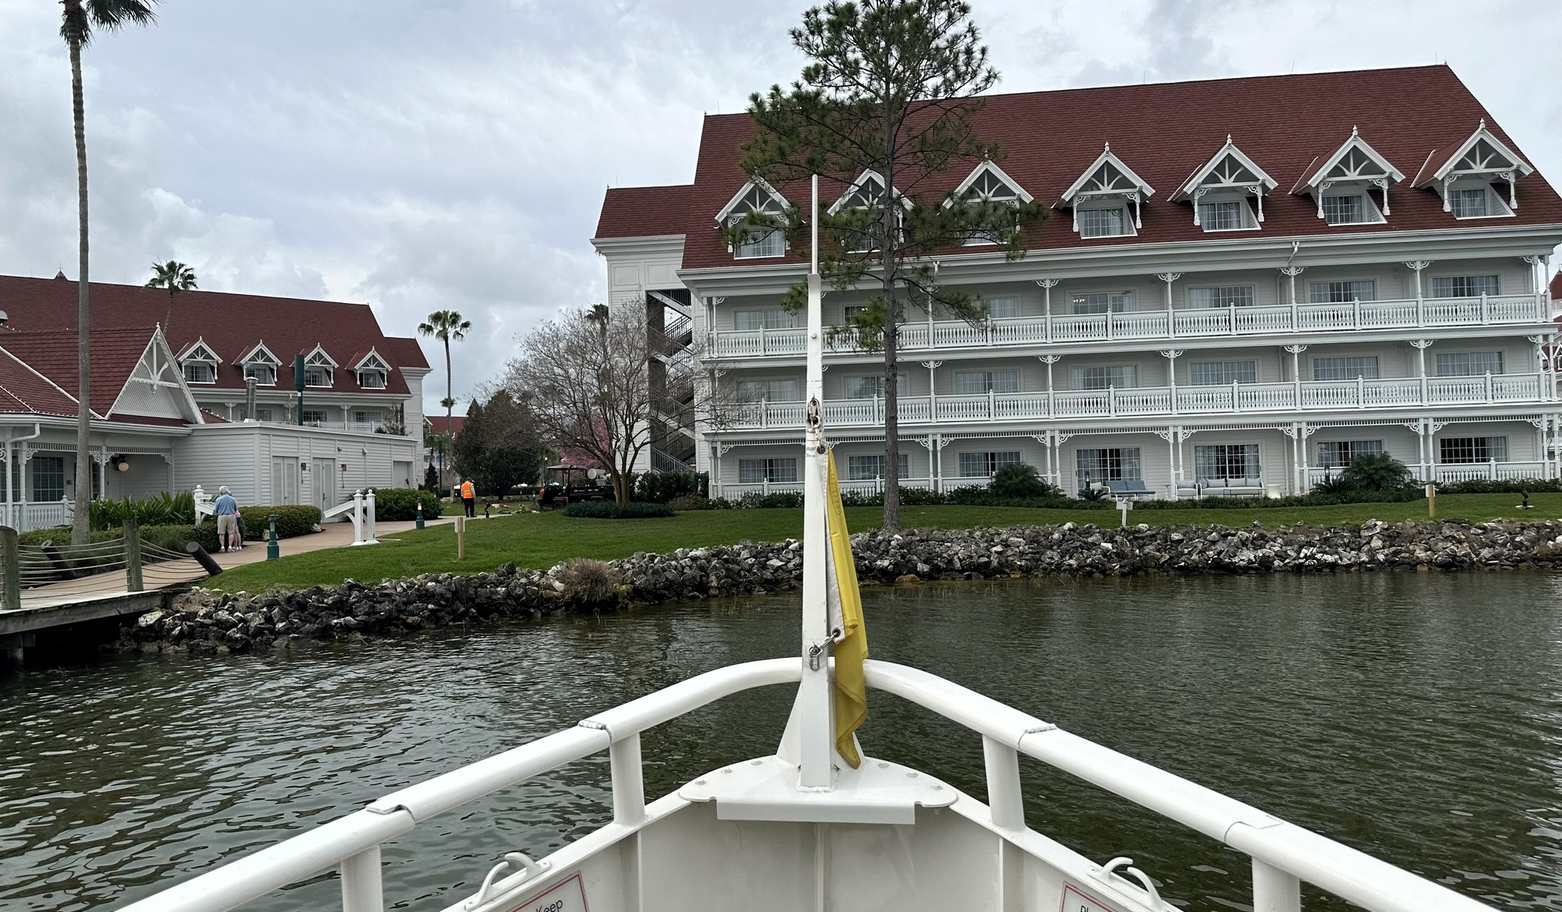
[{"label": "dark greenish rippling water surrounding the boat's bow", "polygon": [[[1562,576],[1097,579],[870,590],[873,654],[920,665],[1501,909],[1562,909]],[[790,654],[793,595],[445,629],[351,648],[122,657],[0,679],[0,907],[95,909],[690,675]],[[772,753],[789,695],[645,737],[647,792]],[[984,795],[979,739],[872,695],[864,746]],[[1022,761],[1031,826],[1132,856],[1187,909],[1246,909],[1246,859]],[[611,817],[606,757],[386,846],[439,909],[505,851]],[[333,907],[331,875],[255,909]],[[1307,909],[1343,904],[1307,896]]]}]

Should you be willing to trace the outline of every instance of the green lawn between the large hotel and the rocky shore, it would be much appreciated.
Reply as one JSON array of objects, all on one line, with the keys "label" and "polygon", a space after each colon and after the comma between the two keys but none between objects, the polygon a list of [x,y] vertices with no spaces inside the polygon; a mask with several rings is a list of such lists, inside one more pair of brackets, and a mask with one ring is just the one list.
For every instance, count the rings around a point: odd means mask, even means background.
[{"label": "green lawn between the large hotel and the rocky shore", "polygon": [[[1462,493],[1437,498],[1442,518],[1490,520],[1518,517],[1514,509],[1517,493]],[[1562,515],[1562,493],[1535,493],[1534,511],[1525,518]],[[586,520],[562,512],[525,514],[480,520],[467,526],[467,559],[456,561],[453,526],[398,533],[383,537],[369,548],[334,548],[294,554],[275,564],[237,567],[209,581],[214,589],[255,592],[270,584],[316,586],[336,584],[351,576],[364,582],[412,576],[433,572],[476,573],[492,570],[506,561],[522,567],[545,568],[567,558],[600,558],[611,561],[636,551],[673,551],[703,545],[729,545],[744,539],[773,542],[795,537],[801,529],[803,511],[744,509],[681,512],[654,520]],[[879,508],[851,508],[847,523],[854,531],[878,528]],[[1314,525],[1364,523],[1370,518],[1400,522],[1426,518],[1426,501],[1362,503],[1343,506],[1312,506],[1290,509],[1147,509],[1129,514],[1129,523],[1150,525],[1250,525],[1265,526],[1309,522]],[[964,529],[972,526],[1015,526],[1048,523],[1117,525],[1117,512],[1020,509],[979,506],[908,506],[901,514],[904,528]]]}]

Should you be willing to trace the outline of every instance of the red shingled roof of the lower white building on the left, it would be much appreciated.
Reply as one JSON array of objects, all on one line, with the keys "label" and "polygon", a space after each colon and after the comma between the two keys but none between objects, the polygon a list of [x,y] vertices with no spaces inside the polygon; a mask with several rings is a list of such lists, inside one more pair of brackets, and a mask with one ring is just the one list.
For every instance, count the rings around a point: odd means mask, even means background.
[{"label": "red shingled roof of the lower white building on the left", "polygon": [[[422,351],[417,353],[415,362],[406,361],[412,350],[389,342],[369,305],[201,290],[180,292],[170,301],[169,292],[162,289],[106,283],[92,283],[91,303],[94,353],[98,350],[100,334],[108,328],[161,325],[175,354],[203,339],[222,358],[222,364],[217,365],[217,383],[211,384],[219,389],[244,389],[242,367],[236,365],[234,359],[259,342],[283,361],[276,372],[276,386],[281,389],[292,389],[294,354],[308,354],[316,344],[323,345],[339,365],[331,386],[336,392],[361,389],[348,361],[353,351],[378,348],[392,367],[401,364],[428,367]],[[0,311],[6,312],[8,326],[14,330],[75,333],[77,283],[58,278],[0,276]],[[150,333],[142,337],[142,347],[147,337]],[[61,339],[69,342],[70,372],[75,376],[75,336]],[[408,392],[398,370],[390,372],[386,387],[394,394]],[[92,395],[94,409],[95,390],[97,384]],[[119,387],[114,392],[119,392]]]}]

